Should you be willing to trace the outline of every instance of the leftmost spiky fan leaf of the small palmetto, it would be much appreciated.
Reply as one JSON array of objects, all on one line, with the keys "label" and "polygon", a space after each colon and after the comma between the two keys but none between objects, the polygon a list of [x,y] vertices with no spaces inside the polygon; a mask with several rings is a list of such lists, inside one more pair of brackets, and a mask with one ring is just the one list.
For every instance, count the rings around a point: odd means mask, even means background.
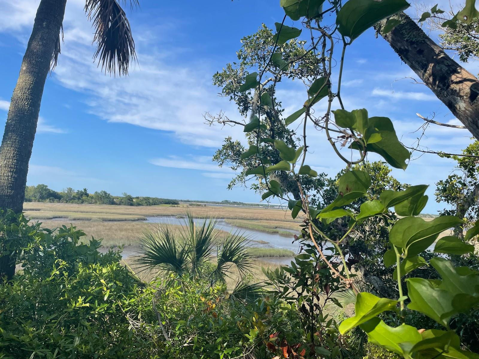
[{"label": "leftmost spiky fan leaf of the small palmetto", "polygon": [[159,269],[159,274],[173,272],[181,277],[188,271],[188,249],[179,245],[168,227],[143,232],[135,262],[142,269]]}]

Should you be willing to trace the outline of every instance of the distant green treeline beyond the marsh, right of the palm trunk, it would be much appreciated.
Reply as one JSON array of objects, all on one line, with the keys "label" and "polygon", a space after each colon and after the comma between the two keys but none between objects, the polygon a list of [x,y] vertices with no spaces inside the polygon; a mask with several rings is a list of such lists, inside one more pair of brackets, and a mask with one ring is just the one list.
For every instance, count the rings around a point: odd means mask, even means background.
[{"label": "distant green treeline beyond the marsh, right of the palm trunk", "polygon": [[75,191],[68,187],[61,192],[54,191],[46,184],[27,186],[25,188],[25,202],[63,202],[63,203],[91,203],[91,204],[118,204],[123,206],[154,206],[158,204],[180,204],[177,200],[158,197],[133,197],[128,193],[123,196],[112,196],[107,191],[88,193],[88,190]]}]

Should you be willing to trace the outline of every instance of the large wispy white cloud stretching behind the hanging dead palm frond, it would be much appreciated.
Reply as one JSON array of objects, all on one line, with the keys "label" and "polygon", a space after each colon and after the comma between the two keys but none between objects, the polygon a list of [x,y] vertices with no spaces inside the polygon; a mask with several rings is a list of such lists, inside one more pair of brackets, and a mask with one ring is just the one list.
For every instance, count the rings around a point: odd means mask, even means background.
[{"label": "large wispy white cloud stretching behind the hanging dead palm frond", "polygon": [[[139,64],[130,68],[128,77],[114,78],[102,73],[92,61],[91,23],[86,20],[84,0],[69,0],[65,19],[65,44],[52,78],[66,88],[87,95],[86,111],[112,123],[128,123],[155,130],[171,132],[177,139],[193,146],[218,147],[224,137],[239,135],[239,128],[208,127],[202,114],[205,111],[227,110],[232,119],[239,120],[236,108],[227,100],[218,98],[211,84],[216,68],[207,63],[178,61],[178,52],[157,51],[162,41],[149,29],[134,27]],[[18,32],[30,31],[32,14],[25,10],[35,8],[30,0],[0,0],[0,8],[8,9],[6,17],[18,18],[18,24],[7,22],[0,29]],[[131,14],[134,17],[136,12]],[[168,29],[160,34],[165,34]],[[1,31],[1,30],[0,30]],[[143,47],[142,47],[143,46]],[[188,59],[191,56],[182,56]],[[48,79],[51,81],[52,79]],[[85,107],[83,105],[83,107]],[[221,132],[220,132],[221,130]],[[43,131],[58,132],[51,126]]]}]

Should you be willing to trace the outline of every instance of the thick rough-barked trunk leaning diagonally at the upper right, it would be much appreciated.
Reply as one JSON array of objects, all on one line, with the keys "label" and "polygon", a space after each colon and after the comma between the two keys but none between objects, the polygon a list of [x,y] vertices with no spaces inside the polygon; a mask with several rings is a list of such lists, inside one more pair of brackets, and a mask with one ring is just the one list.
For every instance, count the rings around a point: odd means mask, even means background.
[{"label": "thick rough-barked trunk leaning diagonally at the upper right", "polygon": [[[382,35],[439,100],[479,140],[479,80],[449,57],[404,12],[402,22]],[[379,30],[386,21],[376,25]]]}]

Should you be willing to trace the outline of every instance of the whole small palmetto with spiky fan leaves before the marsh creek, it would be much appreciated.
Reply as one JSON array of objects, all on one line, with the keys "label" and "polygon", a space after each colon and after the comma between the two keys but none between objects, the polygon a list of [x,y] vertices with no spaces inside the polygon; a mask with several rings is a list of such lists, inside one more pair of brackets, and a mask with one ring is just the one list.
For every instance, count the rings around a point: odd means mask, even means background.
[{"label": "whole small palmetto with spiky fan leaves before the marsh creek", "polygon": [[[140,237],[141,249],[135,259],[137,267],[156,269],[158,276],[174,273],[178,278],[208,279],[212,284],[225,282],[233,269],[242,277],[252,267],[250,240],[234,232],[219,243],[216,224],[213,218],[196,224],[193,215],[186,213],[178,234],[167,225],[145,231]],[[215,247],[216,258],[213,256]]]}]

